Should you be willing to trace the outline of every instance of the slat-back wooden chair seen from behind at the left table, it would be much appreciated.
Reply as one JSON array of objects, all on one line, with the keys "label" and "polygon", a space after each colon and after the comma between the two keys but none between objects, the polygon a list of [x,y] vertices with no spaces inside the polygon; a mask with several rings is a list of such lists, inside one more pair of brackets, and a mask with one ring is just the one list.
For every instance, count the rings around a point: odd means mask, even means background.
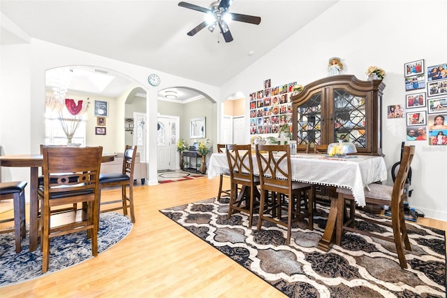
[{"label": "slat-back wooden chair seen from behind at the left table", "polygon": [[[42,272],[49,267],[50,239],[69,233],[87,231],[91,238],[91,254],[98,255],[99,172],[102,147],[43,146],[43,186],[38,187],[41,211],[38,230],[41,236]],[[51,208],[82,203],[80,216],[71,222],[52,224]]]}]

